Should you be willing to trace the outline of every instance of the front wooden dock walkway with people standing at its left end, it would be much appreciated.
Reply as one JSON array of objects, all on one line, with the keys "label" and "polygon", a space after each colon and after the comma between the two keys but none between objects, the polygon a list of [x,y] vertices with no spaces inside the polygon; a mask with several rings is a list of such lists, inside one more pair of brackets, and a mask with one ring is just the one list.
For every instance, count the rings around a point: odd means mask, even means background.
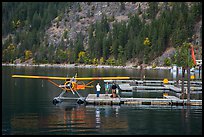
[{"label": "front wooden dock walkway with people standing at its left end", "polygon": [[111,98],[110,95],[100,94],[99,97],[96,97],[96,94],[89,94],[85,101],[86,104],[94,105],[202,105],[202,100],[190,100],[187,103],[186,99],[179,99],[175,96],[165,96],[165,98]]}]

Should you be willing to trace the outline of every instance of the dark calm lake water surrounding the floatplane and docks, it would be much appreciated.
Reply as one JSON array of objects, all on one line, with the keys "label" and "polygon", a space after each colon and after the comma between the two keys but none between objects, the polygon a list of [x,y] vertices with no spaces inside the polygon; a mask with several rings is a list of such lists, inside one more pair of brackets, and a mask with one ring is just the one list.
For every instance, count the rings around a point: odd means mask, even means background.
[{"label": "dark calm lake water surrounding the floatplane and docks", "polygon": [[[11,78],[12,74],[71,77],[75,73],[79,77],[139,77],[141,74],[139,70],[132,69],[3,66],[2,134],[202,134],[202,106],[85,106],[76,104],[75,100],[53,105],[52,99],[61,91],[51,83],[39,79]],[[169,70],[146,70],[144,73],[148,78],[174,78]],[[104,84],[103,81],[100,83]],[[86,96],[94,93],[94,89],[86,89],[79,93]]]}]

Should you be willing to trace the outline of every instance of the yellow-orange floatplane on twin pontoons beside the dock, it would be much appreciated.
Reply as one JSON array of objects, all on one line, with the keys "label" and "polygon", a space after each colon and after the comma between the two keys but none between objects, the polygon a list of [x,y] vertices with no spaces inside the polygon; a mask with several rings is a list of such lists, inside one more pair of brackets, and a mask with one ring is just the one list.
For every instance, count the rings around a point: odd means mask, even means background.
[{"label": "yellow-orange floatplane on twin pontoons beside the dock", "polygon": [[[62,92],[53,99],[53,104],[57,104],[66,99],[73,99],[68,97],[63,97],[65,93],[72,92],[77,95],[77,103],[83,104],[85,102],[85,97],[81,96],[78,90],[84,90],[86,88],[93,88],[91,85],[96,80],[125,80],[130,79],[130,77],[77,77],[77,74],[74,77],[50,77],[50,76],[33,76],[33,75],[12,75],[12,78],[31,78],[31,79],[43,79],[47,80],[51,84],[62,89]],[[54,80],[65,81],[63,84],[57,84]],[[83,81],[89,81],[84,83]]]}]

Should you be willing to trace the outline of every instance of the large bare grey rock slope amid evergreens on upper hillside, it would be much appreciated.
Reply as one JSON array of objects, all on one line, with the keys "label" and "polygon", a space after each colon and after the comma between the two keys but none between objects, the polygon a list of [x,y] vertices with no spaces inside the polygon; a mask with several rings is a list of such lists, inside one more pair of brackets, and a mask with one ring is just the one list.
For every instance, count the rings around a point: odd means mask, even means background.
[{"label": "large bare grey rock slope amid evergreens on upper hillside", "polygon": [[114,20],[110,21],[111,28],[115,21],[127,21],[128,15],[138,12],[139,6],[141,12],[145,12],[148,2],[75,2],[64,15],[53,20],[52,26],[46,31],[48,43],[58,46],[61,41],[75,39],[77,33],[81,32],[85,36],[84,45],[87,45],[89,25],[101,20],[103,14],[108,19],[114,17]]}]

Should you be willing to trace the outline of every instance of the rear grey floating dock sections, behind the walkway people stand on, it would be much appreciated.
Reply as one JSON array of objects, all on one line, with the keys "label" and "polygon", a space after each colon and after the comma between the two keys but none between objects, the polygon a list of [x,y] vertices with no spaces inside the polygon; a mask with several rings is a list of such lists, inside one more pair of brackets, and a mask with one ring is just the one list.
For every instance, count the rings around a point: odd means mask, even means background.
[{"label": "rear grey floating dock sections, behind the walkway people stand on", "polygon": [[[112,83],[113,81],[104,80]],[[181,82],[176,87],[176,81],[164,83],[162,80],[115,80],[122,92],[169,92],[175,93],[175,96],[181,96]],[[184,91],[187,91],[187,81],[184,81]],[[202,81],[190,81],[190,94],[202,94]]]}]

